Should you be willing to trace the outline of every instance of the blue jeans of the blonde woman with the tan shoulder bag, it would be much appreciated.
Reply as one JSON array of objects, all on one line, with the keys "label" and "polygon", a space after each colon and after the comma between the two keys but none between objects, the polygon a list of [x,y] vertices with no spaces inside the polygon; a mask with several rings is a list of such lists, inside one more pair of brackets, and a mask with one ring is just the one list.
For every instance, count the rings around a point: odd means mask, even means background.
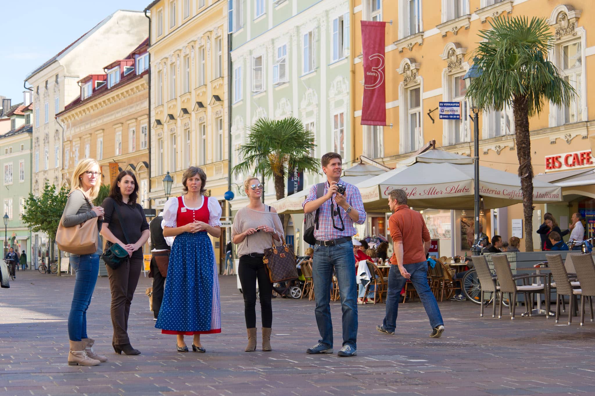
[{"label": "blue jeans of the blonde woman with the tan shoulder bag", "polygon": [[99,275],[99,254],[70,255],[70,265],[76,271],[73,302],[68,315],[68,339],[81,341],[87,337],[87,309]]}]

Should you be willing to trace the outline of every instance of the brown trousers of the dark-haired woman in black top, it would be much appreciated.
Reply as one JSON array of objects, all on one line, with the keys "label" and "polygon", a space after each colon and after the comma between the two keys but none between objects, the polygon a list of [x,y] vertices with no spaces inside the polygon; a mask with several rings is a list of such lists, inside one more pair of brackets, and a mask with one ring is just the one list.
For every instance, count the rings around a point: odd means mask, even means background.
[{"label": "brown trousers of the dark-haired woman in black top", "polygon": [[140,271],[143,267],[142,257],[131,257],[129,262],[117,269],[108,269],[109,289],[112,294],[111,318],[114,327],[113,344],[130,344],[128,338],[128,316],[130,303],[134,297],[136,285],[139,283]]}]

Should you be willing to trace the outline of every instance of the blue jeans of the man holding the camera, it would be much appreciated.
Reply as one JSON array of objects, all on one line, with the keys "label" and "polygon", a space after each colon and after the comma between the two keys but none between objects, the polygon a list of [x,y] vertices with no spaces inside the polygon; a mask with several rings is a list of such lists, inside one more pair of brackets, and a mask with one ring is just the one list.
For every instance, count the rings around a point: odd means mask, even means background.
[{"label": "blue jeans of the man holding the camera", "polygon": [[314,246],[314,299],[316,323],[321,339],[318,342],[333,347],[333,323],[331,322],[331,285],[333,269],[339,284],[341,310],[343,312],[343,345],[357,349],[358,300],[355,284],[355,256],[351,241],[335,246]]}]

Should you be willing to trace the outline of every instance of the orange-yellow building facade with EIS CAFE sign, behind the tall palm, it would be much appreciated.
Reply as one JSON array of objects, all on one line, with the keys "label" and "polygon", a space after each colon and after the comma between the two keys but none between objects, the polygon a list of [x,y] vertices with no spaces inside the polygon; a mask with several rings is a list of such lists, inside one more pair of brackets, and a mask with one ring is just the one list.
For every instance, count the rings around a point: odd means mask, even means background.
[{"label": "orange-yellow building facade with EIS CAFE sign, behind the tall palm", "polygon": [[[480,30],[490,29],[492,18],[527,16],[547,18],[554,35],[550,59],[560,74],[577,90],[571,106],[546,105],[530,118],[531,152],[538,180],[562,186],[564,202],[535,205],[533,229],[552,212],[564,230],[572,212],[587,217],[585,230],[595,234],[593,200],[595,161],[593,144],[595,96],[588,92],[588,74],[595,68],[595,34],[587,20],[595,3],[560,0],[353,0],[353,99],[355,153],[383,164],[415,155],[431,140],[436,147],[461,155],[472,155],[473,123],[465,100],[462,77],[471,66],[471,54],[480,41]],[[386,108],[387,126],[361,125],[364,80],[361,59],[361,20],[386,21]],[[439,102],[461,102],[461,120],[439,120]],[[591,108],[589,105],[591,104]],[[514,121],[512,109],[480,113],[480,165],[516,174]],[[577,153],[577,156],[574,154]],[[582,153],[582,156],[581,156]],[[578,158],[578,161],[577,161]],[[559,165],[561,164],[561,165]],[[555,165],[555,166],[554,166]],[[559,165],[559,166],[558,166]],[[424,210],[440,239],[441,255],[462,254],[466,249],[462,234],[469,211]],[[380,216],[380,214],[378,214]],[[513,220],[523,219],[522,205],[487,210],[482,216],[488,235],[513,235]],[[524,232],[524,231],[523,231]],[[516,234],[516,233],[515,233]],[[524,250],[524,236],[521,250]],[[534,233],[534,249],[540,249]],[[464,249],[465,248],[465,249]]]}]

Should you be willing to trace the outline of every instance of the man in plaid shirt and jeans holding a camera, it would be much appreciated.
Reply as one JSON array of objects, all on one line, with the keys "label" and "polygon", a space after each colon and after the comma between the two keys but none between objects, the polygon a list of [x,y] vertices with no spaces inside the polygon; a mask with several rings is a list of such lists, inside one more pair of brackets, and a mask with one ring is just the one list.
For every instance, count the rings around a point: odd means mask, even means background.
[{"label": "man in plaid shirt and jeans holding a camera", "polygon": [[[366,212],[357,187],[341,180],[342,158],[337,153],[322,156],[322,172],[327,175],[324,195],[317,198],[317,186],[302,203],[304,213],[320,209],[318,227],[314,229],[316,244],[312,265],[316,323],[321,339],[306,353],[333,353],[333,323],[331,322],[330,288],[333,269],[339,284],[343,312],[343,348],[337,356],[355,356],[358,335],[357,288],[352,237],[357,233],[353,223],[364,224]],[[345,193],[339,190],[345,188]]]}]

